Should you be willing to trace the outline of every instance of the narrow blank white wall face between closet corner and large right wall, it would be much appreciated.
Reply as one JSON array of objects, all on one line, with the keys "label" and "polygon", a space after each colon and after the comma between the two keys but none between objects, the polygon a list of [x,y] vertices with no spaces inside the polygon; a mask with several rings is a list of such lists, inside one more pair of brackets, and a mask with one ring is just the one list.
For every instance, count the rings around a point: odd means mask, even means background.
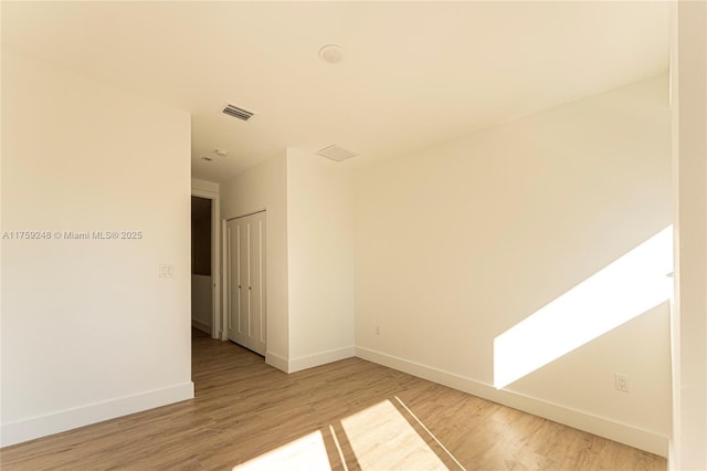
[{"label": "narrow blank white wall face between closet corner and large right wall", "polygon": [[354,220],[345,164],[287,149],[289,370],[354,356]]}]

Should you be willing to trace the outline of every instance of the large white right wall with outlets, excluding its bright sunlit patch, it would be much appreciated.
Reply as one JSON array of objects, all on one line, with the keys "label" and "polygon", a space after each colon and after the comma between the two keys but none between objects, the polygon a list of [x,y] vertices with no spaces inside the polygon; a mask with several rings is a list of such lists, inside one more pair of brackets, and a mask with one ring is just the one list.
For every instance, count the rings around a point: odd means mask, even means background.
[{"label": "large white right wall with outlets, excluding its bright sunlit patch", "polygon": [[665,454],[665,305],[510,394],[489,385],[497,335],[671,224],[667,86],[655,77],[360,170],[357,355]]}]

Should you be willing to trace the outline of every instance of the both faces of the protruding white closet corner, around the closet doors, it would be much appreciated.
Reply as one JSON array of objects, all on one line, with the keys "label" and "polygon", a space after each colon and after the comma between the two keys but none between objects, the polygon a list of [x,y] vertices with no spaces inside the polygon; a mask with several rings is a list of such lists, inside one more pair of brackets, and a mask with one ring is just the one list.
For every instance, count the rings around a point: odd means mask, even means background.
[{"label": "both faces of the protruding white closet corner, around the closet doors", "polygon": [[223,219],[267,210],[266,362],[292,373],[352,356],[352,216],[344,167],[286,149],[221,189]]}]

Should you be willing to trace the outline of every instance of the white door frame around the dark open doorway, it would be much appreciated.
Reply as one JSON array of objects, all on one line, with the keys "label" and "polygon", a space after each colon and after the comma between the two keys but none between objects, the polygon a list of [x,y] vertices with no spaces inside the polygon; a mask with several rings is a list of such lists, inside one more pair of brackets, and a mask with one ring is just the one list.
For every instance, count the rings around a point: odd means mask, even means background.
[{"label": "white door frame around the dark open doorway", "polygon": [[211,200],[211,337],[225,335],[221,316],[221,207],[219,185],[209,181],[191,180],[191,196]]}]

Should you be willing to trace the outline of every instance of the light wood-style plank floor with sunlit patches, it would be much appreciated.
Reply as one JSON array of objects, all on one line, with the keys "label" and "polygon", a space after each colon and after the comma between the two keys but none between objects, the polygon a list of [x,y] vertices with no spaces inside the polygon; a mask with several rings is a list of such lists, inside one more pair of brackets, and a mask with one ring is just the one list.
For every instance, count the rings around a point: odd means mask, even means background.
[{"label": "light wood-style plank floor with sunlit patches", "polygon": [[196,333],[193,380],[193,400],[4,448],[1,468],[667,468],[661,457],[358,358],[285,375]]}]

